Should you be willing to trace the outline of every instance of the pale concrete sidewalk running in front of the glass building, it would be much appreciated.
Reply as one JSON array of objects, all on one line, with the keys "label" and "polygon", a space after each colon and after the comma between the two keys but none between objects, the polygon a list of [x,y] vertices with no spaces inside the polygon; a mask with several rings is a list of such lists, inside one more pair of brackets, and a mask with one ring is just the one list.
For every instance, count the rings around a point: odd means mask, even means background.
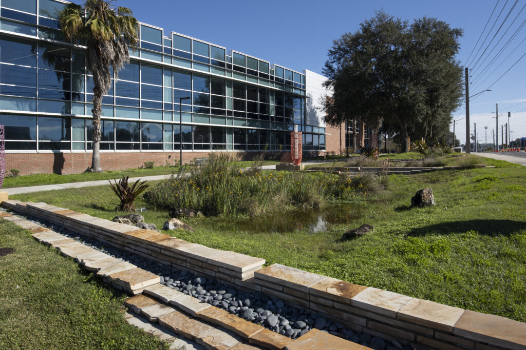
[{"label": "pale concrete sidewalk running in front of the glass building", "polygon": [[[345,160],[342,158],[342,160]],[[340,160],[338,160],[340,161]],[[308,161],[303,162],[305,165],[313,165],[320,163],[330,163],[331,161]],[[274,170],[276,165],[264,165],[261,167],[265,170]],[[170,174],[167,175],[154,175],[154,176],[142,176],[142,177],[131,177],[128,179],[129,183],[134,183],[138,179],[147,180],[147,181],[157,181],[170,178]],[[118,180],[118,179],[117,179]],[[113,179],[112,179],[113,183]],[[84,181],[84,182],[71,182],[66,184],[55,184],[55,185],[39,185],[39,186],[27,186],[27,187],[13,187],[13,188],[3,188],[10,196],[18,195],[21,193],[32,193],[32,192],[41,192],[41,191],[51,191],[56,189],[65,189],[65,188],[81,188],[81,187],[91,187],[91,186],[103,186],[108,185],[108,180],[97,180],[97,181]]]}]

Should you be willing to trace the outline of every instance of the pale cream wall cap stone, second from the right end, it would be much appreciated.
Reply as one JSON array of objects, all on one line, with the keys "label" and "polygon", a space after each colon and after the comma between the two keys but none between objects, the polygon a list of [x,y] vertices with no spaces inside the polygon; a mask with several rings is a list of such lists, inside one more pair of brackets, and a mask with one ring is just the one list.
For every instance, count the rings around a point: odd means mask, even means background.
[{"label": "pale cream wall cap stone, second from the right end", "polygon": [[398,310],[397,319],[452,333],[463,313],[459,307],[413,298]]}]

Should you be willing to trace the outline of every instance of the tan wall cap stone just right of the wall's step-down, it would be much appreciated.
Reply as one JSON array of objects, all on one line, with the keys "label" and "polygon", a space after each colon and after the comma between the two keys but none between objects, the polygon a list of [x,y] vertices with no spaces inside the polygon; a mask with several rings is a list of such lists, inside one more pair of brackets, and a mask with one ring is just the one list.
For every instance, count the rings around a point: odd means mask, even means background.
[{"label": "tan wall cap stone just right of the wall's step-down", "polygon": [[281,264],[272,264],[266,268],[254,272],[254,277],[272,283],[287,285],[296,290],[309,292],[309,287],[319,281],[326,279],[317,273],[294,269]]}]

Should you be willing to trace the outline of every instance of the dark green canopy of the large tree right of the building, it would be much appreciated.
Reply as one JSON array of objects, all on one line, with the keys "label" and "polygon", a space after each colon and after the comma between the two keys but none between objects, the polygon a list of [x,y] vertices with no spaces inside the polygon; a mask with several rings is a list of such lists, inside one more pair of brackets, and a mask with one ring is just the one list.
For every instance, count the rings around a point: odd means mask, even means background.
[{"label": "dark green canopy of the large tree right of the building", "polygon": [[332,98],[326,122],[360,119],[382,125],[408,150],[407,137],[447,139],[451,113],[462,99],[462,68],[455,60],[462,29],[436,18],[411,25],[377,12],[356,33],[333,41],[323,73]]}]

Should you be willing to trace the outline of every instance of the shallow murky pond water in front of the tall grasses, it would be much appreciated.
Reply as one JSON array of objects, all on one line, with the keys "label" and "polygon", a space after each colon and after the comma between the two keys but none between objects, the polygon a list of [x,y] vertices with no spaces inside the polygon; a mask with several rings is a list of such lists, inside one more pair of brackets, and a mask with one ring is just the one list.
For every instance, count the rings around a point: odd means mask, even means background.
[{"label": "shallow murky pond water in front of the tall grasses", "polygon": [[351,205],[328,206],[318,210],[283,211],[252,218],[217,218],[219,229],[255,233],[280,233],[305,230],[323,232],[328,224],[345,224],[360,218],[360,211]]}]

